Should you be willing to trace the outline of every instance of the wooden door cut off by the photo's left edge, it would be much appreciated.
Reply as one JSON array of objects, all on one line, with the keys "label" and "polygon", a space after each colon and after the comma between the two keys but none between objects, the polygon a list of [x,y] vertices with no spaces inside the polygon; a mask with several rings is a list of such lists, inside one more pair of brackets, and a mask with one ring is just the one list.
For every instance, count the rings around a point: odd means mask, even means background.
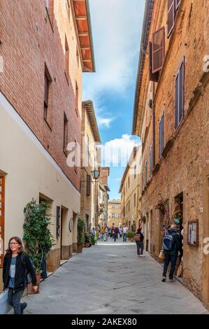
[{"label": "wooden door cut off by the photo's left edge", "polygon": [[4,255],[4,210],[5,209],[5,179],[0,176],[0,267],[3,267]]}]

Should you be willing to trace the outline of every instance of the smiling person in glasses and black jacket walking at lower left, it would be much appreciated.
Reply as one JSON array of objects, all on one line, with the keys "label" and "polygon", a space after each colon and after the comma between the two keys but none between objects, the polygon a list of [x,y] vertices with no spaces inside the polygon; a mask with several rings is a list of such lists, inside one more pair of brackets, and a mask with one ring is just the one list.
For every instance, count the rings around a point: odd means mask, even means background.
[{"label": "smiling person in glasses and black jacket walking at lower left", "polygon": [[31,275],[34,293],[37,293],[36,272],[31,259],[24,253],[20,237],[12,237],[3,259],[3,290],[8,288],[8,303],[13,307],[14,314],[23,314],[27,307],[26,302],[20,303],[28,283],[27,274]]}]

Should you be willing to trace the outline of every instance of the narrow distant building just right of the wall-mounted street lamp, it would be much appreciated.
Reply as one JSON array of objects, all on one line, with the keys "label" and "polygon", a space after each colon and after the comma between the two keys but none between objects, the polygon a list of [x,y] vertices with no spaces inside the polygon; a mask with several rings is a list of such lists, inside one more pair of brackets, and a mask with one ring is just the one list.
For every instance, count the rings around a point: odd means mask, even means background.
[{"label": "narrow distant building just right of the wall-mounted street lamp", "polygon": [[108,225],[108,200],[110,189],[108,188],[108,176],[110,176],[109,167],[101,167],[99,178],[99,224]]}]

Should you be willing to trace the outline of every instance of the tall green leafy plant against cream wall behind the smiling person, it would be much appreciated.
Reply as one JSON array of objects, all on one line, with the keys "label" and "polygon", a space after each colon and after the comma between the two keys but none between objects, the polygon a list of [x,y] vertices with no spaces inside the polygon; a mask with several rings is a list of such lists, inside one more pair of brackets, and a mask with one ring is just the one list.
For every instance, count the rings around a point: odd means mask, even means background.
[{"label": "tall green leafy plant against cream wall behind the smiling person", "polygon": [[41,272],[43,259],[48,257],[50,249],[55,245],[55,239],[48,228],[51,218],[47,214],[49,208],[46,202],[38,204],[34,199],[24,207],[23,241],[36,273]]}]

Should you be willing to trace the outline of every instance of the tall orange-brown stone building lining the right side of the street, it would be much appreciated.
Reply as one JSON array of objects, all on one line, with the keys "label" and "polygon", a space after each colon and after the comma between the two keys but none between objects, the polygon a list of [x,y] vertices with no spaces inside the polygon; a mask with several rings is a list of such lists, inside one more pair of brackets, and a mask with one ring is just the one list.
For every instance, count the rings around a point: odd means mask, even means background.
[{"label": "tall orange-brown stone building lining the right side of the street", "polygon": [[179,221],[180,230],[184,227],[180,275],[206,307],[208,34],[208,1],[146,1],[133,119],[133,134],[143,144],[141,207],[149,251],[157,258],[165,225]]}]

